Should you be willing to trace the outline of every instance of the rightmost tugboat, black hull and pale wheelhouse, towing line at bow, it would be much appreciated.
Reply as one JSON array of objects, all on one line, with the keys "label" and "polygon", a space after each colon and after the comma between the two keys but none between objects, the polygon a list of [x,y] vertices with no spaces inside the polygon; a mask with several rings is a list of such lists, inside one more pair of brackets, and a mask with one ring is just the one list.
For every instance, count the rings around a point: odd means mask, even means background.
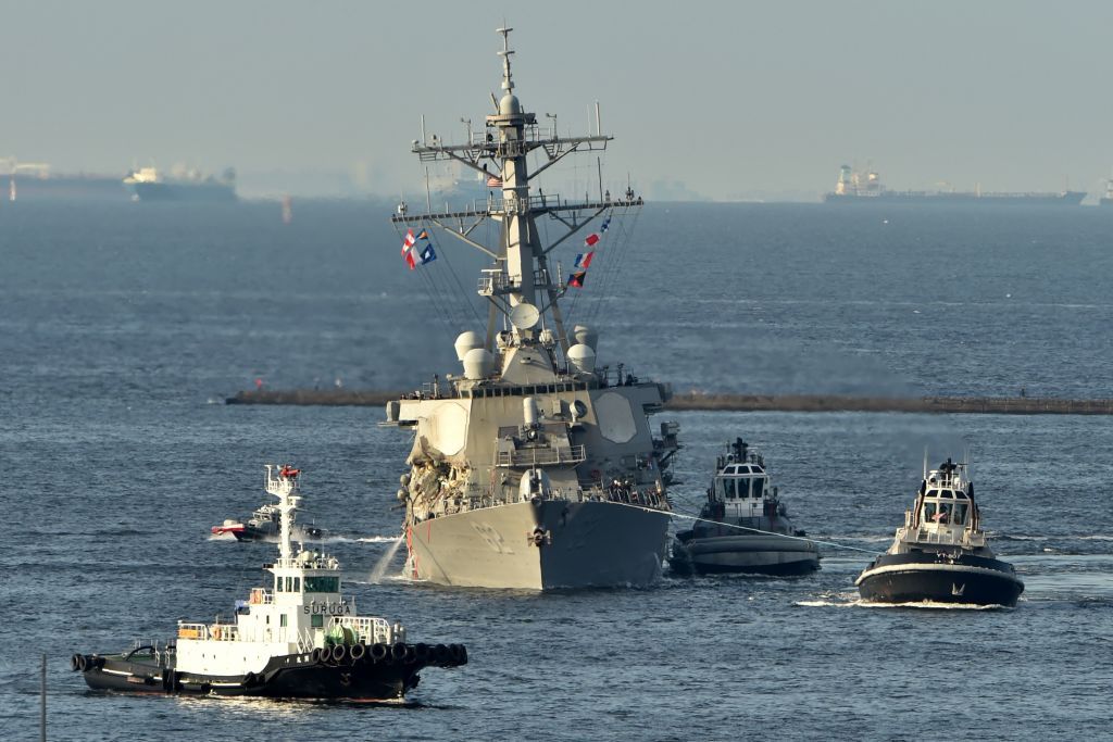
[{"label": "rightmost tugboat, black hull and pale wheelhouse, towing line at bow", "polygon": [[855,581],[876,603],[1016,605],[1024,592],[1013,565],[986,544],[966,464],[949,458],[927,471],[893,546]]}]

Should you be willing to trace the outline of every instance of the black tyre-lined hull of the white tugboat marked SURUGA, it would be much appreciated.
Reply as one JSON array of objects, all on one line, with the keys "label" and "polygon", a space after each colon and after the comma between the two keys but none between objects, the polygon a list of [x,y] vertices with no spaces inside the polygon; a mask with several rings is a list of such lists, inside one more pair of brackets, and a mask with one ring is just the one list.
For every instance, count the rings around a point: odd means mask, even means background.
[{"label": "black tyre-lined hull of the white tugboat marked SURUGA", "polygon": [[[387,649],[390,654],[377,660],[370,652],[355,661],[351,657],[314,660],[312,654],[290,654],[274,657],[260,673],[230,676],[179,672],[173,665],[156,662],[150,655],[75,655],[71,666],[81,671],[90,689],[98,691],[391,701],[404,698],[417,685],[421,670],[453,667],[467,662],[467,652],[462,645],[443,650],[424,644]],[[77,666],[82,663],[85,669]]]}]

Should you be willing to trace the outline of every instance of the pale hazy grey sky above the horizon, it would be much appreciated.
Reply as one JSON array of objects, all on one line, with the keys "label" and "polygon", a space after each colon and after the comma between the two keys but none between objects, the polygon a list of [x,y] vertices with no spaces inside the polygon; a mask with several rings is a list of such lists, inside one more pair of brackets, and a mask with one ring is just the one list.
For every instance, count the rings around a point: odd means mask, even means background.
[{"label": "pale hazy grey sky above the horizon", "polygon": [[526,109],[583,132],[600,100],[608,178],[646,190],[818,196],[867,160],[896,188],[1096,190],[1113,166],[1113,2],[1015,0],[0,0],[0,157],[414,189],[420,115],[452,141],[490,112],[504,17]]}]

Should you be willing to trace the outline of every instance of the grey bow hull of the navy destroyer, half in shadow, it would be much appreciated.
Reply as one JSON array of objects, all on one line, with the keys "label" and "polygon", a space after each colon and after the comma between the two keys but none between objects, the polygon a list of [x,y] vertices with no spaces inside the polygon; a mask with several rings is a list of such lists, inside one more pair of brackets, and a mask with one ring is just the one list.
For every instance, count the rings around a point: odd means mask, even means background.
[{"label": "grey bow hull of the navy destroyer, half in shadow", "polygon": [[[661,574],[669,514],[613,502],[546,499],[407,528],[418,580],[518,590],[644,586]],[[535,528],[548,538],[535,545]]]}]

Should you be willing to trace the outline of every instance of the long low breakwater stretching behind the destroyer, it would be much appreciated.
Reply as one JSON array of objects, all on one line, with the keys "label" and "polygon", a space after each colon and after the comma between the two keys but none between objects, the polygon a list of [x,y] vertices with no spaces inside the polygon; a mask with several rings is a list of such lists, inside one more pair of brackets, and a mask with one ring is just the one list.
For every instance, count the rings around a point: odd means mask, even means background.
[{"label": "long low breakwater stretching behind the destroyer", "polygon": [[[229,405],[323,405],[378,407],[402,395],[356,389],[257,389],[239,392]],[[1113,415],[1113,399],[1040,397],[857,397],[831,394],[705,394],[681,392],[667,409],[796,413],[969,413],[983,415]]]}]

